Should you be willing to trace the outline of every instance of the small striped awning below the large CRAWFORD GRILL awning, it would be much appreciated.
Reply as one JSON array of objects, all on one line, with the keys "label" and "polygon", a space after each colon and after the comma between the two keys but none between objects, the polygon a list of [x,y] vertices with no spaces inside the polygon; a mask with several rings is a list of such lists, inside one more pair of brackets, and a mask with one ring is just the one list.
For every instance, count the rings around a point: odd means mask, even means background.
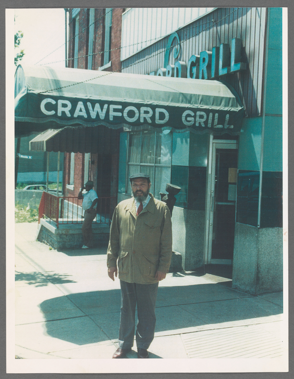
[{"label": "small striped awning below the large CRAWFORD GRILL awning", "polygon": [[117,131],[105,126],[48,129],[29,141],[30,151],[110,154]]}]

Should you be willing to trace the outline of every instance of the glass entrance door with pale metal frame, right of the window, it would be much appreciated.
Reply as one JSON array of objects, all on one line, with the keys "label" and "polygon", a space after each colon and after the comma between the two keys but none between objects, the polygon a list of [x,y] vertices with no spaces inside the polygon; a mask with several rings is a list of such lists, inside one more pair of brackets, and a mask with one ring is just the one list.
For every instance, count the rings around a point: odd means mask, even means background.
[{"label": "glass entrance door with pale metal frame, right of the window", "polygon": [[237,142],[213,142],[211,157],[207,263],[232,264],[237,196]]}]

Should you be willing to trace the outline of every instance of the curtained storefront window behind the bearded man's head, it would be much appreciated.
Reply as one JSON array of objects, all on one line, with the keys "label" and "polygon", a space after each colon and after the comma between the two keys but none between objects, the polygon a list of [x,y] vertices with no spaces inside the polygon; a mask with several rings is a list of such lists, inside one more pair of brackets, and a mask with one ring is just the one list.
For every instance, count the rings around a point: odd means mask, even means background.
[{"label": "curtained storefront window behind the bearded man's head", "polygon": [[[150,192],[160,199],[165,193],[166,184],[171,177],[172,133],[169,131],[142,131],[129,133],[127,155],[127,178],[136,172],[145,172],[150,176]],[[131,186],[127,180],[127,194],[131,195]]]}]

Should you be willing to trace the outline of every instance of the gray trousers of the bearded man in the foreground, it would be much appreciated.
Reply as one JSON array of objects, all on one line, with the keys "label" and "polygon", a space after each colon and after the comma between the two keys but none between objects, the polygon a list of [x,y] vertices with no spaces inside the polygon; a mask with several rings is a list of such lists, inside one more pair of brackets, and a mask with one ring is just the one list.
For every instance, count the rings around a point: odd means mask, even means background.
[{"label": "gray trousers of the bearded man in the foreground", "polygon": [[148,349],[153,341],[155,332],[155,302],[158,283],[137,284],[121,280],[120,288],[119,347],[121,349],[131,349],[133,347],[137,305],[136,345],[137,348]]}]

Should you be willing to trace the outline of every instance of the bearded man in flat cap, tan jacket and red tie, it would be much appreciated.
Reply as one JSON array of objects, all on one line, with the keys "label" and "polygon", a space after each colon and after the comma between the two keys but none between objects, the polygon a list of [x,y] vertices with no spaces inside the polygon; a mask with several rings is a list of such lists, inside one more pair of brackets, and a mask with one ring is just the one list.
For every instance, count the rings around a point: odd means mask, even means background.
[{"label": "bearded man in flat cap, tan jacket and red tie", "polygon": [[[165,279],[172,257],[172,224],[167,205],[150,193],[145,173],[130,176],[133,198],[115,208],[107,251],[108,276],[120,279],[119,348],[112,358],[127,358],[135,333],[137,357],[149,358],[155,332],[158,282]],[[118,266],[118,269],[117,269]]]}]

